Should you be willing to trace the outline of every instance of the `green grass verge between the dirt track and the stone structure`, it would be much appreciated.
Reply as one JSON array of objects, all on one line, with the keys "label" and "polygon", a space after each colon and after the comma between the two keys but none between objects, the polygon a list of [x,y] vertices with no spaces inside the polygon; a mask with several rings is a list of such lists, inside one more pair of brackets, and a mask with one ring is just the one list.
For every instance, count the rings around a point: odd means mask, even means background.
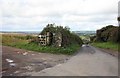
[{"label": "green grass verge between the dirt track and the stone structure", "polygon": [[20,48],[20,49],[37,51],[37,52],[43,52],[43,53],[67,54],[67,55],[74,54],[80,48],[79,45],[71,45],[69,47],[63,48],[63,47],[53,47],[53,46],[39,46],[35,43],[12,44],[9,46]]}]

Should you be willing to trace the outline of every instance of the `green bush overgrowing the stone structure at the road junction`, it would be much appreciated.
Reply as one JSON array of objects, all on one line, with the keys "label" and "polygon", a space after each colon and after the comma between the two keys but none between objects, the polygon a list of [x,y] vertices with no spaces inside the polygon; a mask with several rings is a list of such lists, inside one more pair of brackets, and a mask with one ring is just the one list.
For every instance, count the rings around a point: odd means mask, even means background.
[{"label": "green bush overgrowing the stone structure at the road junction", "polygon": [[40,34],[45,34],[46,32],[50,33],[61,33],[62,34],[62,46],[66,47],[72,44],[82,45],[81,38],[70,32],[69,27],[56,26],[55,24],[48,24]]}]

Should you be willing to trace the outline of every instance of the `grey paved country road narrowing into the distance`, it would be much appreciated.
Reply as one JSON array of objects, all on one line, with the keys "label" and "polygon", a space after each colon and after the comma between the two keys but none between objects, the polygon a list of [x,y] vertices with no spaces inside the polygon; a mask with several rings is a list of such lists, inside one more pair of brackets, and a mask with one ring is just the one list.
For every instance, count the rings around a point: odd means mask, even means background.
[{"label": "grey paved country road narrowing into the distance", "polygon": [[66,63],[26,74],[32,76],[118,76],[118,58],[92,46],[82,46],[80,52]]}]

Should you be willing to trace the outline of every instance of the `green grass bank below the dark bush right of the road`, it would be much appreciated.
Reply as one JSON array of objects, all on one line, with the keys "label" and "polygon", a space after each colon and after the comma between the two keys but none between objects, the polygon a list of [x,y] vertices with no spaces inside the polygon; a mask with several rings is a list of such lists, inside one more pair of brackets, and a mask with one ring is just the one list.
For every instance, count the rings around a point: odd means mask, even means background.
[{"label": "green grass bank below the dark bush right of the road", "polygon": [[118,46],[120,46],[120,44],[113,42],[94,42],[92,45],[99,48],[111,49],[115,51],[118,51]]}]

